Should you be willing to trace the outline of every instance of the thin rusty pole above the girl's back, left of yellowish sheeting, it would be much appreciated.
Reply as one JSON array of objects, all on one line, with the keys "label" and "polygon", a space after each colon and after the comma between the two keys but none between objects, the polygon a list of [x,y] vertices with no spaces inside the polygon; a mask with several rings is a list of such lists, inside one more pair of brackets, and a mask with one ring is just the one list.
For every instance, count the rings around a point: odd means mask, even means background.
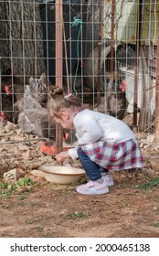
[{"label": "thin rusty pole above the girl's back, left of yellowish sheeting", "polygon": [[113,52],[114,52],[114,20],[115,20],[115,5],[116,1],[111,0],[111,68],[110,68],[110,81],[113,84]]}]

